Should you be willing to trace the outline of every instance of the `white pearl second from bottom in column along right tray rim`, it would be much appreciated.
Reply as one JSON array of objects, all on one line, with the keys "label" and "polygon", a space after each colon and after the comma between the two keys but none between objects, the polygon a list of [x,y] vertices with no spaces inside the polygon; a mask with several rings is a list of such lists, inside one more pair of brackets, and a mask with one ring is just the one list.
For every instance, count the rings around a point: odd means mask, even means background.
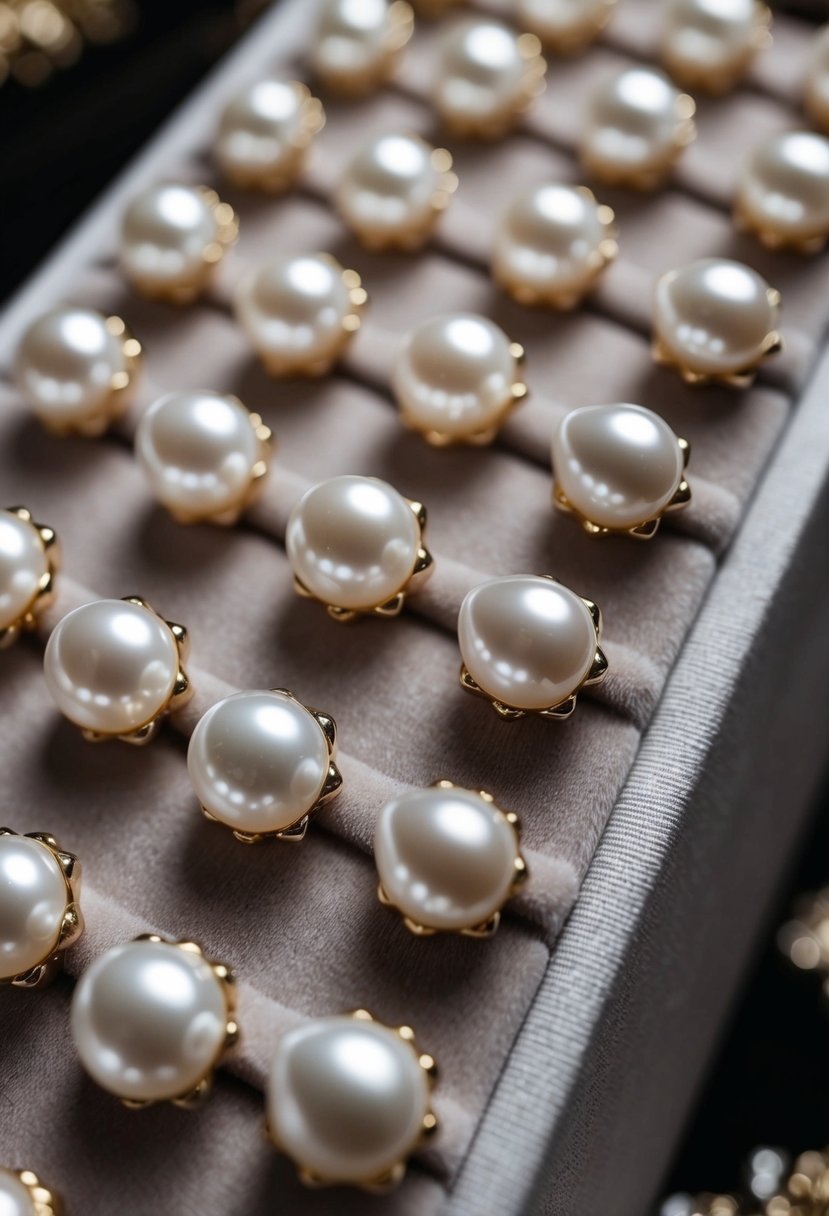
[{"label": "white pearl second from bottom in column along right tray rim", "polygon": [[458,931],[508,899],[519,860],[507,816],[470,789],[416,789],[380,811],[374,861],[383,890],[413,924]]}]

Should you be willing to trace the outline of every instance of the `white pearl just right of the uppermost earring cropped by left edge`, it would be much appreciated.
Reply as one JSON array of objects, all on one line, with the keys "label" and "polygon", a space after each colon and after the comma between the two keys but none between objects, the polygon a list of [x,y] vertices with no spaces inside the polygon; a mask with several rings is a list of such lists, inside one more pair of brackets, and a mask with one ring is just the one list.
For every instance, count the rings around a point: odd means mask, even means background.
[{"label": "white pearl just right of the uppermost earring cropped by left edge", "polygon": [[83,730],[128,734],[168,704],[179,672],[169,626],[139,604],[96,599],[55,626],[44,654],[46,686]]}]

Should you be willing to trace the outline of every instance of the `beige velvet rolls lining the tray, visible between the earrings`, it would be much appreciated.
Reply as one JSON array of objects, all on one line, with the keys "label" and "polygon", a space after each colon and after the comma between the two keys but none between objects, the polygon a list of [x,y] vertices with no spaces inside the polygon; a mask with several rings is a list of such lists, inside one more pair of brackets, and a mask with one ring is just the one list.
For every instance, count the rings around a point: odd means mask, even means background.
[{"label": "beige velvet rolls lining the tray, visible between the earrings", "polygon": [[[621,0],[603,44],[553,63],[547,94],[508,140],[450,141],[461,187],[416,257],[367,254],[328,198],[342,164],[372,131],[405,128],[442,140],[425,97],[435,38],[427,26],[395,84],[328,107],[298,190],[271,199],[220,186],[242,235],[203,302],[177,310],[136,297],[117,270],[112,230],[102,230],[95,264],[77,268],[67,298],[124,316],[146,351],[135,405],[106,438],[45,434],[6,360],[0,501],[26,502],[56,527],[64,574],[40,637],[0,657],[2,818],[19,831],[49,829],[83,858],[88,933],[51,991],[0,990],[0,1160],[36,1169],[63,1190],[69,1214],[371,1207],[428,1216],[442,1204],[829,317],[825,258],[766,254],[735,236],[728,215],[735,150],[800,120],[794,102],[808,28],[794,21],[780,21],[778,45],[749,88],[701,105],[699,143],[664,192],[598,191],[617,212],[621,255],[582,309],[528,311],[491,285],[498,209],[531,181],[581,180],[574,148],[583,98],[605,73],[648,52],[648,0]],[[272,52],[278,66],[278,45]],[[171,158],[165,175],[214,182],[208,143]],[[233,283],[269,252],[322,248],[363,276],[365,327],[325,379],[271,381],[235,323]],[[650,362],[653,281],[703,254],[743,258],[784,292],[786,351],[744,394],[688,389]],[[453,308],[486,313],[528,351],[530,398],[486,450],[428,447],[400,427],[388,390],[407,327]],[[176,388],[237,393],[275,430],[264,497],[232,530],[170,522],[132,460],[140,411]],[[693,505],[649,545],[592,541],[551,507],[553,427],[573,406],[613,400],[658,410],[692,443]],[[291,506],[315,480],[345,472],[383,477],[429,510],[434,578],[393,623],[343,627],[292,589],[282,547]],[[552,573],[604,613],[608,680],[580,698],[565,725],[503,724],[457,686],[463,595],[519,572]],[[749,590],[762,595],[761,586]],[[75,604],[132,593],[188,626],[196,696],[147,749],[91,747],[50,703],[43,638]],[[272,686],[335,717],[345,788],[301,846],[252,849],[199,816],[185,749],[198,716],[221,696]],[[376,900],[378,809],[402,786],[438,777],[490,789],[524,826],[531,880],[490,942],[412,939]],[[198,1115],[122,1110],[81,1076],[68,1040],[72,978],[108,945],[148,930],[197,938],[238,970],[242,1041]],[[356,1006],[411,1023],[441,1066],[441,1131],[402,1188],[371,1201],[303,1192],[259,1135],[277,1036],[299,1019]]]}]

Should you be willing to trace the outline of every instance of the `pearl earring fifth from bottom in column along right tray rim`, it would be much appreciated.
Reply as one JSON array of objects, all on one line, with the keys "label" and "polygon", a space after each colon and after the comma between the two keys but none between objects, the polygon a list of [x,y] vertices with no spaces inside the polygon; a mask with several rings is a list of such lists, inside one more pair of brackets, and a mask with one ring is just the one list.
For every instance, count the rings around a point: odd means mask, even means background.
[{"label": "pearl earring fifth from bottom in column along right tray rim", "polygon": [[748,388],[763,359],[782,349],[780,293],[756,270],[703,258],[656,283],[653,356],[688,384]]}]

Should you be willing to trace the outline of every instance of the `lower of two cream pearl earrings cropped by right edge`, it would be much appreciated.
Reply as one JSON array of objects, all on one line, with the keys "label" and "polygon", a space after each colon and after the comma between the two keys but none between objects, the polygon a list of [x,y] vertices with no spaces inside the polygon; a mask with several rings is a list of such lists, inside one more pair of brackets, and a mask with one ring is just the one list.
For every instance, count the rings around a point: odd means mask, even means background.
[{"label": "lower of two cream pearl earrings cropped by right edge", "polygon": [[743,168],[734,209],[763,244],[820,248],[829,236],[829,140],[811,131],[765,140]]}]

